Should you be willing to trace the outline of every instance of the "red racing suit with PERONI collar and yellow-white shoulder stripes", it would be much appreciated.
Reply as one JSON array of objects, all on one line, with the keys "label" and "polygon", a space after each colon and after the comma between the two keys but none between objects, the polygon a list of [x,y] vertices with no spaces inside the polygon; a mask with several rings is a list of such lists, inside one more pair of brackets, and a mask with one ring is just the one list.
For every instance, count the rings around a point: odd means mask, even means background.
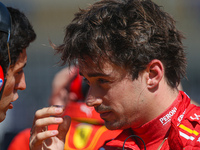
[{"label": "red racing suit with PERONI collar and yellow-white shoulder stripes", "polygon": [[[158,106],[159,107],[159,106]],[[200,150],[200,107],[190,103],[182,91],[173,104],[161,115],[138,129],[126,129],[115,139],[107,141],[104,150],[122,149],[130,135],[143,139],[147,150]],[[126,150],[144,150],[140,138],[130,137]]]}]

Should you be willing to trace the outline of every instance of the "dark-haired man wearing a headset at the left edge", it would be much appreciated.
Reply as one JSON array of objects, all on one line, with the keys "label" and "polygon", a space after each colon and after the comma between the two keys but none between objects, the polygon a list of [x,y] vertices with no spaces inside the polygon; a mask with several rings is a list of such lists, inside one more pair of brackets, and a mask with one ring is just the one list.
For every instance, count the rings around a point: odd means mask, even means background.
[{"label": "dark-haired man wearing a headset at the left edge", "polygon": [[36,34],[26,16],[17,9],[1,4],[0,21],[0,75],[1,84],[0,122],[6,117],[12,102],[18,99],[18,90],[26,88],[23,68],[27,62],[26,48]]}]

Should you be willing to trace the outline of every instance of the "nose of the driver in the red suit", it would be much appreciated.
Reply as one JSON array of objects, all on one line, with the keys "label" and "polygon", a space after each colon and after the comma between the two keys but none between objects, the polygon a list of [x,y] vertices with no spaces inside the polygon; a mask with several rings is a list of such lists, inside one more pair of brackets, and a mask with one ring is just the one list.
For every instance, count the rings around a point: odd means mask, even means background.
[{"label": "nose of the driver in the red suit", "polygon": [[97,92],[90,87],[86,97],[86,105],[90,107],[96,107],[98,105],[101,105],[102,102],[102,98],[98,96]]}]

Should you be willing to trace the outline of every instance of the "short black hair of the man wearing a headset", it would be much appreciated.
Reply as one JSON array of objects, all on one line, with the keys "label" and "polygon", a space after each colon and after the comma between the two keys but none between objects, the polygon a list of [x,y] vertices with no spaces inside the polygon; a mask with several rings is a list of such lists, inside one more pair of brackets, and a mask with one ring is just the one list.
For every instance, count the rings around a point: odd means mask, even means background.
[{"label": "short black hair of the man wearing a headset", "polygon": [[[11,64],[15,64],[22,50],[27,48],[29,44],[35,40],[36,34],[27,17],[18,9],[8,7],[11,16],[11,36],[10,36],[10,55]],[[8,50],[7,50],[8,34],[0,32],[0,65],[4,73],[8,67]]]}]

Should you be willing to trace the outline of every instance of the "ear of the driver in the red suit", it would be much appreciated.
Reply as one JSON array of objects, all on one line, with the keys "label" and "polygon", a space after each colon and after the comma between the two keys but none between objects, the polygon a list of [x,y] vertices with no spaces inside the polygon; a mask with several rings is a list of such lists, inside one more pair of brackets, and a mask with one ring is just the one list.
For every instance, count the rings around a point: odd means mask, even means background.
[{"label": "ear of the driver in the red suit", "polygon": [[147,65],[147,87],[153,89],[158,86],[164,76],[164,67],[160,60],[154,59]]}]

